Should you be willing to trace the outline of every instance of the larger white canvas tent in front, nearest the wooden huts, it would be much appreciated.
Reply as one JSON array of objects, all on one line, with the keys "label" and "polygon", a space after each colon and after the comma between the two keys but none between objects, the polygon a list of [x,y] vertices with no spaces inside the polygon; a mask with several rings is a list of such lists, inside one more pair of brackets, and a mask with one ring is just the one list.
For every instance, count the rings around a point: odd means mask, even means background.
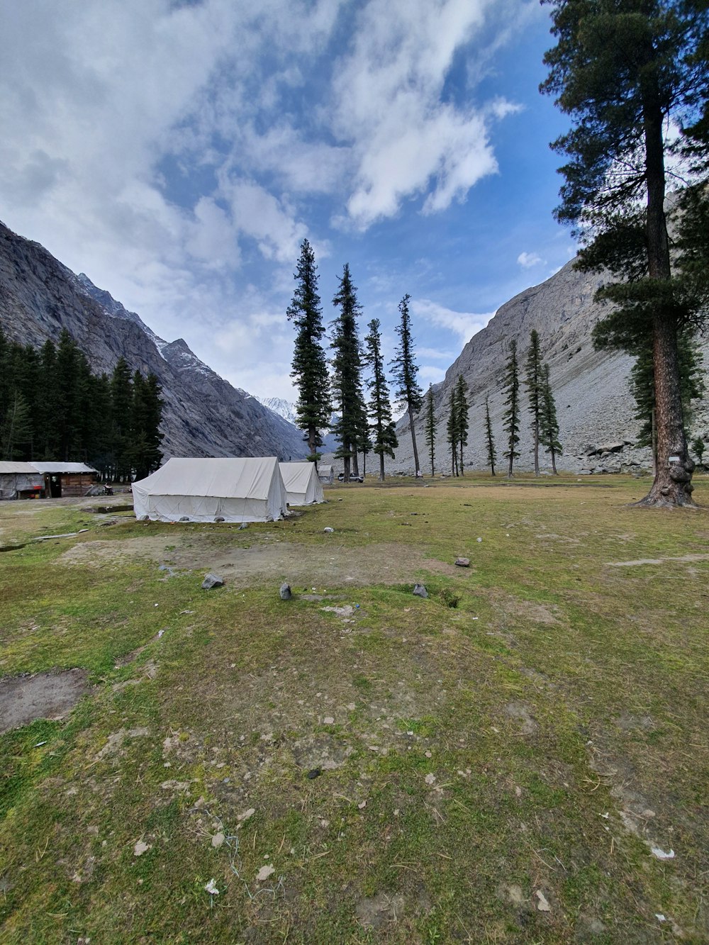
[{"label": "larger white canvas tent in front, nearest the wooden huts", "polygon": [[275,456],[173,457],[133,483],[133,508],[160,522],[271,522],[285,515],[285,489]]}]

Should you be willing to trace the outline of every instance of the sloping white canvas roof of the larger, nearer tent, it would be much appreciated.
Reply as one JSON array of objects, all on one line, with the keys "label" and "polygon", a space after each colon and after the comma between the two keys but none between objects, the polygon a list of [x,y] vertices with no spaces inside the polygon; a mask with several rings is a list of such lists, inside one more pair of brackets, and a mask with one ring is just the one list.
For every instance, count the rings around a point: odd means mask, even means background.
[{"label": "sloping white canvas roof of the larger, nearer tent", "polygon": [[275,456],[185,459],[174,457],[133,486],[153,495],[268,499]]}]

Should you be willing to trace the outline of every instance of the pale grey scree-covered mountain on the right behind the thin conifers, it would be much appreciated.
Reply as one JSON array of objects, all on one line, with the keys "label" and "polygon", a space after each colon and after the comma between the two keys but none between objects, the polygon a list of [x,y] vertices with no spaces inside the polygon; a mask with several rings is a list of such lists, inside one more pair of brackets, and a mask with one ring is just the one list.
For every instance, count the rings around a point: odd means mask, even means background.
[{"label": "pale grey scree-covered mountain on the right behind the thin conifers", "polygon": [[[446,371],[445,379],[434,387],[439,421],[438,470],[450,472],[445,421],[451,388],[457,382],[458,374],[462,374],[470,389],[471,404],[465,463],[471,468],[486,467],[484,421],[485,398],[489,395],[498,466],[503,472],[504,365],[512,339],[516,339],[520,362],[524,363],[532,329],[540,335],[544,360],[549,363],[551,371],[563,446],[563,455],[557,460],[558,468],[571,472],[649,468],[649,450],[634,446],[639,424],[632,417],[635,409],[629,388],[632,359],[625,354],[597,352],[591,340],[593,327],[604,314],[604,309],[593,300],[600,282],[600,277],[574,269],[573,261],[567,263],[545,283],[526,289],[502,305],[487,327],[471,338]],[[700,346],[707,369],[709,337],[700,339]],[[522,394],[521,457],[515,460],[515,468],[530,470],[533,469],[533,455],[524,388]],[[700,402],[694,402],[692,408],[692,437],[701,435],[709,442],[709,397],[705,395]],[[406,417],[397,424],[397,435],[400,446],[389,468],[413,472],[411,435]],[[425,460],[423,417],[416,421],[416,436],[420,462],[426,472],[429,466]],[[545,462],[544,453],[542,457]]]}]

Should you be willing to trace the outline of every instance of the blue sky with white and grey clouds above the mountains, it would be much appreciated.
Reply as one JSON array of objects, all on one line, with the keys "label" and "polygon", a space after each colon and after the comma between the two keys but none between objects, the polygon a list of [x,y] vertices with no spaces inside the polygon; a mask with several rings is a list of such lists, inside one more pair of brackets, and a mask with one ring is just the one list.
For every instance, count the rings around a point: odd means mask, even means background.
[{"label": "blue sky with white and grey clouds above the mountains", "polygon": [[574,251],[548,28],[538,0],[0,4],[0,219],[287,399],[307,236],[325,320],[347,262],[390,353],[409,293],[435,383]]}]

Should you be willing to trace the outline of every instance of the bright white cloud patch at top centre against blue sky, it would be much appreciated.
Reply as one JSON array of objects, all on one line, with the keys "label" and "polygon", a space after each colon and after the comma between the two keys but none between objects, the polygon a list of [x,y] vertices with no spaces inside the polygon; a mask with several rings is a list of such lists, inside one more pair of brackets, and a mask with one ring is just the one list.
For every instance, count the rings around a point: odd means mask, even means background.
[{"label": "bright white cloud patch at top centre against blue sky", "polygon": [[430,186],[424,214],[444,210],[496,173],[488,121],[514,107],[442,99],[456,53],[493,9],[493,0],[371,0],[361,10],[334,84],[334,128],[357,164],[347,209],[360,229]]}]

